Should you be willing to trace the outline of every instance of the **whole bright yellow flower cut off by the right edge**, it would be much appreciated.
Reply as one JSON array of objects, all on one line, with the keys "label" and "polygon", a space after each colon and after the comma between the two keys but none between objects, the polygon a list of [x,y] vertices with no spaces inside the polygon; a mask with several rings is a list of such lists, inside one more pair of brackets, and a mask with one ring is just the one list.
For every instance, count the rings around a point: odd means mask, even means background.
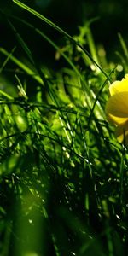
[{"label": "whole bright yellow flower cut off by the right edge", "polygon": [[116,125],[116,137],[128,144],[128,74],[109,87],[110,98],[106,105],[108,121]]}]

